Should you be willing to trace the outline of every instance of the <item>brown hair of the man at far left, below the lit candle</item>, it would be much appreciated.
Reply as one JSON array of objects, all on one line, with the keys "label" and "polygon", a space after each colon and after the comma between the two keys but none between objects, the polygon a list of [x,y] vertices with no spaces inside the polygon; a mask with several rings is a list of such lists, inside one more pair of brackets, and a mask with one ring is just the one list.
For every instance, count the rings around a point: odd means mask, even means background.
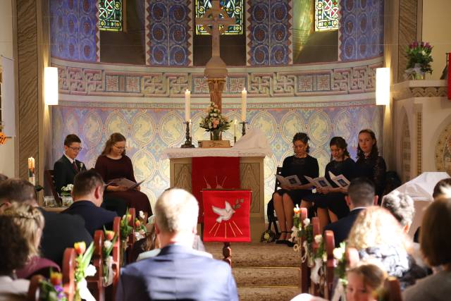
[{"label": "brown hair of the man at far left, below the lit candle", "polygon": [[0,202],[36,202],[36,190],[32,183],[10,178],[0,182]]}]

